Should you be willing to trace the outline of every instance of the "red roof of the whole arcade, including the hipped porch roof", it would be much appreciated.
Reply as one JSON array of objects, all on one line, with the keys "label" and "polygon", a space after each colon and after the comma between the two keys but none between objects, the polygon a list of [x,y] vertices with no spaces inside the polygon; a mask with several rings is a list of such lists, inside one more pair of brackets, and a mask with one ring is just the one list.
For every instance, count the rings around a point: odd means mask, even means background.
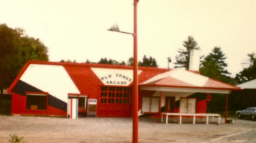
[{"label": "red roof of the whole arcade, including the hipped porch roof", "polygon": [[[58,65],[63,66],[67,71],[70,79],[81,93],[86,92],[91,88],[91,84],[102,84],[99,77],[93,72],[91,68],[103,69],[129,69],[132,66],[124,65],[110,65],[110,64],[78,64],[65,62],[49,62],[49,61],[28,61],[22,71],[20,71],[17,78],[9,87],[8,92],[12,92],[22,74],[26,71],[29,64],[44,64],[44,65]],[[161,69],[154,67],[139,67],[139,84],[140,87],[155,86],[155,87],[180,87],[180,88],[203,88],[203,89],[229,89],[239,90],[239,87],[234,87],[230,84],[209,79],[208,77],[196,74],[194,71],[186,71],[180,69]],[[201,80],[201,81],[200,81]]]}]

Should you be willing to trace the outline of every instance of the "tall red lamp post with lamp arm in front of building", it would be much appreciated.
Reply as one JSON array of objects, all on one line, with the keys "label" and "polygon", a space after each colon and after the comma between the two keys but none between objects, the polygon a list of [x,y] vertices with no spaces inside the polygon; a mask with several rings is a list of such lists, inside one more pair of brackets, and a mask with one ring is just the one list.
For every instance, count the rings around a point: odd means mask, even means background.
[{"label": "tall red lamp post with lamp arm in front of building", "polygon": [[116,31],[123,34],[132,34],[133,36],[133,112],[132,112],[132,142],[139,142],[139,86],[138,86],[138,61],[137,61],[137,4],[139,0],[134,0],[134,28],[133,34],[125,31],[119,31],[117,24],[111,26],[109,31]]}]

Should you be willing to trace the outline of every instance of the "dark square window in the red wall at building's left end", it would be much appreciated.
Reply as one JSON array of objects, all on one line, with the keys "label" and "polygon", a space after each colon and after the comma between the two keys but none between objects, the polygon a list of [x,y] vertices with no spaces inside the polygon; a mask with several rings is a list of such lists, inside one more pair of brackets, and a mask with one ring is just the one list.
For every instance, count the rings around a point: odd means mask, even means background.
[{"label": "dark square window in the red wall at building's left end", "polygon": [[47,109],[46,93],[28,93],[27,94],[27,109],[45,110]]}]

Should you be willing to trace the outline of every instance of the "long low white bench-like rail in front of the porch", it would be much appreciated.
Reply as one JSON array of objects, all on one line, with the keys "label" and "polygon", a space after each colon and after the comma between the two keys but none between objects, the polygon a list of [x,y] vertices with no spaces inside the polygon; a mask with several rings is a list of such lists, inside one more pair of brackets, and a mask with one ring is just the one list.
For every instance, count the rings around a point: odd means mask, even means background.
[{"label": "long low white bench-like rail in front of the porch", "polygon": [[206,124],[209,123],[209,117],[212,117],[212,122],[214,122],[214,117],[219,117],[218,124],[221,124],[221,115],[220,114],[211,114],[211,113],[168,113],[163,112],[161,121],[163,122],[163,116],[166,116],[165,123],[168,124],[168,116],[179,116],[180,117],[180,124],[182,124],[182,117],[193,117],[193,124],[196,124],[196,117],[206,117]]}]

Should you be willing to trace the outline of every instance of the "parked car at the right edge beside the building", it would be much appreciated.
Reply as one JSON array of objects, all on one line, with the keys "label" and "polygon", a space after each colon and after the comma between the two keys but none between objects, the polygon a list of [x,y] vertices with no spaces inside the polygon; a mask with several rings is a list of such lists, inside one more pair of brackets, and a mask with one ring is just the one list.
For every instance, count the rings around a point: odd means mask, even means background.
[{"label": "parked car at the right edge beside the building", "polygon": [[256,107],[248,107],[244,110],[238,110],[236,112],[238,119],[242,119],[242,117],[248,117],[252,120],[255,120],[256,117]]}]

